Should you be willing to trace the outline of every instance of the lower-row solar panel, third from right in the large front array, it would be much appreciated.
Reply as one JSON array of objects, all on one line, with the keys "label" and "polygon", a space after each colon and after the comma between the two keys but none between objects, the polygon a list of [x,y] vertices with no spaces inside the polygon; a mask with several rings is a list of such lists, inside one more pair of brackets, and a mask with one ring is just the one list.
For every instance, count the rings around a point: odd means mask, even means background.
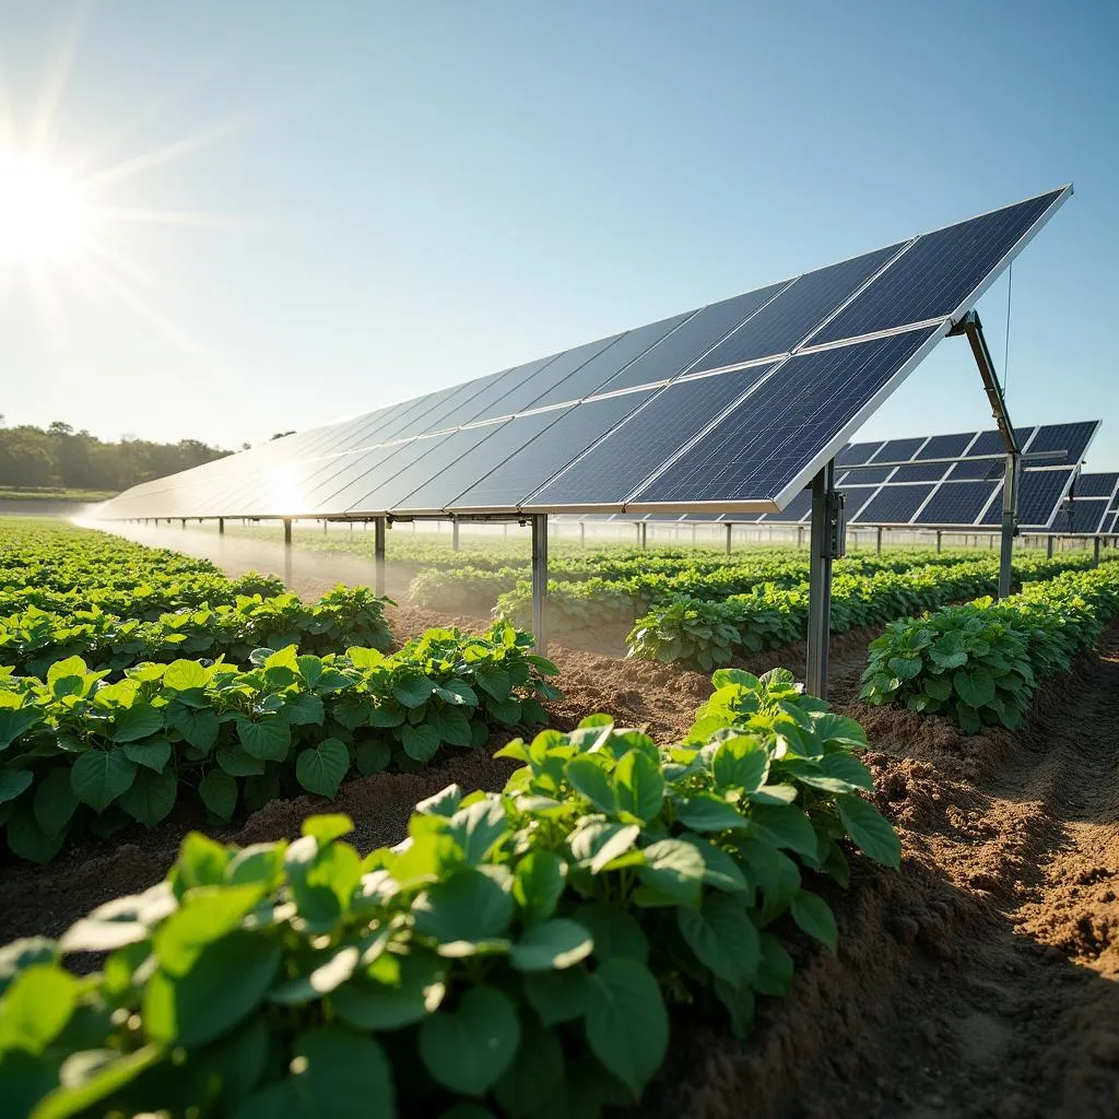
[{"label": "lower-row solar panel, third from right in the large front array", "polygon": [[561,412],[560,419],[551,427],[471,486],[452,502],[451,508],[508,509],[519,506],[567,466],[584,446],[605,435],[651,395],[651,389],[624,393],[621,396],[576,404]]}]

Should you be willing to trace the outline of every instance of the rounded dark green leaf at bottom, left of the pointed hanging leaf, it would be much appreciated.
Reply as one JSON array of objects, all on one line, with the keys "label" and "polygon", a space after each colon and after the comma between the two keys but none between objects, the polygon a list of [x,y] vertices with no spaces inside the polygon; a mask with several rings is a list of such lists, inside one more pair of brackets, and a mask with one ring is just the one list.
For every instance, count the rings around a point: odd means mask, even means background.
[{"label": "rounded dark green leaf at bottom, left of the pointed hanging leaf", "polygon": [[420,1055],[432,1078],[452,1092],[481,1096],[509,1066],[520,1024],[509,997],[496,987],[469,989],[453,1013],[420,1026]]}]

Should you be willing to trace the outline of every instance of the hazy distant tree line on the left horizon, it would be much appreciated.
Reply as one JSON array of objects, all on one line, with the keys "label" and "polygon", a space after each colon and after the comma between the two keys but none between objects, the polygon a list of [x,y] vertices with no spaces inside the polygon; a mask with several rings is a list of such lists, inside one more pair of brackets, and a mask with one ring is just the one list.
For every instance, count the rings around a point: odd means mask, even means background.
[{"label": "hazy distant tree line on the left horizon", "polygon": [[109,443],[62,421],[23,424],[0,427],[0,486],[120,491],[229,453],[197,439],[153,443],[124,435]]}]

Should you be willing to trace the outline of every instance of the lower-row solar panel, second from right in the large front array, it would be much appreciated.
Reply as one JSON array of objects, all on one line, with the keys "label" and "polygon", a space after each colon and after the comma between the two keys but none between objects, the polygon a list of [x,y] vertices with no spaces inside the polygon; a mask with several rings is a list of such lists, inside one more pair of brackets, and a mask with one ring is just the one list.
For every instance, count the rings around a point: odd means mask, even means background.
[{"label": "lower-row solar panel, second from right in the large front array", "polygon": [[751,366],[669,385],[545,486],[526,508],[623,502],[771,368]]}]

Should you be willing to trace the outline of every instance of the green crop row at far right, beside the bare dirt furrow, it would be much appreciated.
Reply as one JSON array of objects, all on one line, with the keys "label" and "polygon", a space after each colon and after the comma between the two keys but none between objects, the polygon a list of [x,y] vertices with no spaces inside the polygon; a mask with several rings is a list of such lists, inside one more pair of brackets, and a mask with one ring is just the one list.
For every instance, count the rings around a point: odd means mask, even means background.
[{"label": "green crop row at far right, beside the bare dirt furrow", "polygon": [[1038,684],[1068,671],[1119,615],[1119,564],[1031,583],[1000,602],[946,606],[871,643],[862,698],[943,713],[965,731],[1021,725]]}]

